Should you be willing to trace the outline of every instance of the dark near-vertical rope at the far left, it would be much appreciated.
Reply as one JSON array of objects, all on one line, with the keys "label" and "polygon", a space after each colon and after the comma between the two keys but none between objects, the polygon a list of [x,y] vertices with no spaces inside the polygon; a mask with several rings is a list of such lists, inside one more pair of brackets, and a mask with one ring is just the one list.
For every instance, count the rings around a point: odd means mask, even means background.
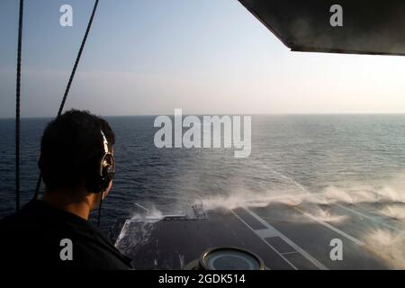
[{"label": "dark near-vertical rope at the far left", "polygon": [[20,97],[21,97],[21,56],[23,47],[23,10],[24,0],[20,0],[18,16],[18,44],[17,44],[17,81],[15,91],[15,210],[20,210]]}]

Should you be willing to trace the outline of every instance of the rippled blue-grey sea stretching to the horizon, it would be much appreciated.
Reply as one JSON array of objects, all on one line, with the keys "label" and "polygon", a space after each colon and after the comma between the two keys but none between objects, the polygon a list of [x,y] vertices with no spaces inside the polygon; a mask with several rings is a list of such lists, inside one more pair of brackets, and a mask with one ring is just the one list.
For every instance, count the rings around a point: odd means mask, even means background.
[{"label": "rippled blue-grey sea stretching to the horizon", "polygon": [[[265,206],[302,194],[369,202],[376,212],[405,220],[405,115],[255,115],[247,158],[234,157],[230,148],[156,148],[154,119],[106,118],[116,134],[117,166],[103,203],[103,228],[133,217],[136,202],[176,213],[194,202],[207,209]],[[35,188],[40,136],[49,120],[22,121],[23,203]],[[0,120],[0,135],[3,217],[14,211],[14,120]]]}]

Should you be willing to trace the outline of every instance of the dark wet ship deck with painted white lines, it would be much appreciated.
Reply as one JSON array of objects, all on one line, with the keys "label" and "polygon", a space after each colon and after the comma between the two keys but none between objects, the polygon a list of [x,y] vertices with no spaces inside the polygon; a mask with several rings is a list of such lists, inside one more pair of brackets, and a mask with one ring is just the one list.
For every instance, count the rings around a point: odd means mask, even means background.
[{"label": "dark wet ship deck with painted white lines", "polygon": [[[278,203],[216,209],[207,212],[206,220],[127,220],[116,246],[135,269],[182,269],[209,247],[245,248],[269,269],[392,268],[390,255],[364,238],[364,222],[382,224],[373,215],[338,204],[330,211],[347,220],[325,221],[309,211],[306,205]],[[342,242],[342,260],[330,256],[332,239]]]}]

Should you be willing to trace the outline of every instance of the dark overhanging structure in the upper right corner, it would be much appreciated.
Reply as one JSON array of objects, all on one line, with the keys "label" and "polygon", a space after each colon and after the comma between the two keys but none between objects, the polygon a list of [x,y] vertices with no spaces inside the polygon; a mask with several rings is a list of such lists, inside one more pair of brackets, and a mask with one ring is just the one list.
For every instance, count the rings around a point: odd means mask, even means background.
[{"label": "dark overhanging structure in the upper right corner", "polygon": [[[405,56],[404,0],[238,0],[293,51]],[[330,25],[330,7],[343,26]]]}]

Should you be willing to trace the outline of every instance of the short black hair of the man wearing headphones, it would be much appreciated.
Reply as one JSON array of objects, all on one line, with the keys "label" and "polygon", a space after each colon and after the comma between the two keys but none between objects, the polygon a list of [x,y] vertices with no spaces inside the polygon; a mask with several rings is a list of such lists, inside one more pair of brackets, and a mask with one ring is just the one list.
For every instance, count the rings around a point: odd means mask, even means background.
[{"label": "short black hair of the man wearing headphones", "polygon": [[90,112],[72,109],[49,122],[38,163],[47,191],[76,188],[97,176],[104,153],[101,131],[111,151],[115,135],[110,125]]}]

